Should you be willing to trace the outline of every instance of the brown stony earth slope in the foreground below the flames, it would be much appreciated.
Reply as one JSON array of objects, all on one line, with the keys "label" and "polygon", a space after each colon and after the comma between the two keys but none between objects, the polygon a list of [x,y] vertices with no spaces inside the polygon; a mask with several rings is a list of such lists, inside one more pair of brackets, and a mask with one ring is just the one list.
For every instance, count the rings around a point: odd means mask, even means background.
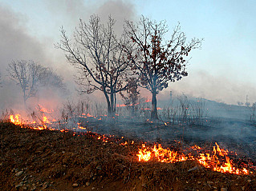
[{"label": "brown stony earth slope in the foreground below the flames", "polygon": [[0,190],[256,190],[255,173],[189,171],[196,161],[138,162],[141,142],[131,142],[0,123]]}]

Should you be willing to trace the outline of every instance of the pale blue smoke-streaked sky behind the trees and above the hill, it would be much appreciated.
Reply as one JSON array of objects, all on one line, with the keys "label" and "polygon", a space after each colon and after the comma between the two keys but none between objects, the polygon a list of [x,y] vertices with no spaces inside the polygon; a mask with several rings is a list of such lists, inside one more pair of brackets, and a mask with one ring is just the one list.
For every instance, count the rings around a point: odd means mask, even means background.
[{"label": "pale blue smoke-streaked sky behind the trees and above the hill", "polygon": [[[60,27],[71,35],[79,18],[87,21],[91,14],[98,14],[104,20],[112,14],[121,31],[124,19],[137,20],[143,14],[165,20],[169,34],[180,22],[188,41],[204,38],[201,50],[190,54],[189,76],[171,83],[158,99],[173,91],[227,104],[245,102],[248,95],[252,103],[256,102],[254,10],[254,0],[0,0],[0,72],[5,78],[6,66],[12,60],[32,59],[63,75],[73,88],[75,69],[63,52],[55,49]],[[150,97],[149,92],[144,94]]]}]

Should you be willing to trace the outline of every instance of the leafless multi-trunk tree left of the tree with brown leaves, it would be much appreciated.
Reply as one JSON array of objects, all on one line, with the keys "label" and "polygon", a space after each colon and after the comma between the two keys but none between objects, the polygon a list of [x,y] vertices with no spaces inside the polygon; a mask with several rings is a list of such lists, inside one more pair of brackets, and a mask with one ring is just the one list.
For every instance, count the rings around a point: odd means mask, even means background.
[{"label": "leafless multi-trunk tree left of the tree with brown leaves", "polygon": [[80,19],[73,42],[62,28],[62,40],[56,45],[66,53],[67,61],[79,68],[77,82],[83,87],[81,92],[91,94],[100,90],[104,93],[109,117],[116,113],[116,93],[127,88],[125,82],[130,71],[128,56],[121,46],[128,41],[124,36],[116,38],[114,25],[111,17],[106,26],[96,15],[92,15],[88,23]]}]

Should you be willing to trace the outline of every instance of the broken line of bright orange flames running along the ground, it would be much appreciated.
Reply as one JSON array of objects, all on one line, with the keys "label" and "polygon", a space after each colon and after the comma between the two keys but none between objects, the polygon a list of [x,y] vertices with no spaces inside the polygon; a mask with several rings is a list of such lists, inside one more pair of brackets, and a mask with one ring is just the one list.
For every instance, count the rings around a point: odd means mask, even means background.
[{"label": "broken line of bright orange flames running along the ground", "polygon": [[[43,111],[46,111],[47,113],[49,110],[43,109]],[[94,117],[89,113],[83,113],[81,117]],[[96,117],[94,117],[96,118]],[[101,117],[100,119],[101,120]],[[55,120],[49,120],[46,116],[43,116],[43,119],[40,120],[39,124],[35,121],[27,122],[21,120],[21,116],[19,114],[10,115],[10,121],[14,123],[15,125],[21,125],[22,127],[25,127],[24,125],[28,125],[29,128],[32,129],[50,129],[50,130],[61,130],[66,131],[67,129],[55,129],[52,127],[47,127],[47,125],[51,126],[51,121]],[[78,129],[87,129],[83,126],[81,126],[80,123],[77,123]],[[90,132],[91,133],[91,132]],[[74,133],[75,135],[75,133]],[[97,139],[100,139],[104,142],[108,142],[111,137],[107,137],[105,135],[96,134]],[[123,138],[123,137],[122,137]],[[129,144],[134,144],[134,141]],[[125,141],[124,143],[120,143],[120,145],[128,145],[128,142]],[[137,160],[140,162],[147,162],[147,161],[159,161],[159,162],[166,162],[166,163],[174,163],[178,161],[187,161],[187,160],[196,160],[199,164],[204,166],[208,169],[213,169],[214,171],[221,172],[221,173],[234,173],[234,174],[250,174],[248,169],[246,168],[237,168],[236,165],[234,165],[233,161],[228,157],[230,154],[229,150],[221,149],[217,143],[213,146],[213,149],[205,152],[204,149],[201,149],[198,145],[193,145],[191,150],[197,152],[197,154],[190,153],[181,153],[175,150],[171,150],[169,148],[164,149],[161,144],[153,145],[153,146],[146,146],[145,144],[142,144],[140,149],[138,149],[138,153],[136,153]],[[246,166],[248,167],[248,166]]]}]

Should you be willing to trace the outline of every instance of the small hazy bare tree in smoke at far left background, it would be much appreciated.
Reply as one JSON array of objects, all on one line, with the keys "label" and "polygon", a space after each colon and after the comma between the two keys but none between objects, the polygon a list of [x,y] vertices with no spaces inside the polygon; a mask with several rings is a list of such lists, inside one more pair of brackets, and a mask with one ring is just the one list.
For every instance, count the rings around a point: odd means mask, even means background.
[{"label": "small hazy bare tree in smoke at far left background", "polygon": [[63,79],[55,74],[50,68],[46,68],[33,61],[13,61],[7,71],[10,78],[22,89],[23,101],[35,97],[39,86],[56,86],[63,88]]}]

